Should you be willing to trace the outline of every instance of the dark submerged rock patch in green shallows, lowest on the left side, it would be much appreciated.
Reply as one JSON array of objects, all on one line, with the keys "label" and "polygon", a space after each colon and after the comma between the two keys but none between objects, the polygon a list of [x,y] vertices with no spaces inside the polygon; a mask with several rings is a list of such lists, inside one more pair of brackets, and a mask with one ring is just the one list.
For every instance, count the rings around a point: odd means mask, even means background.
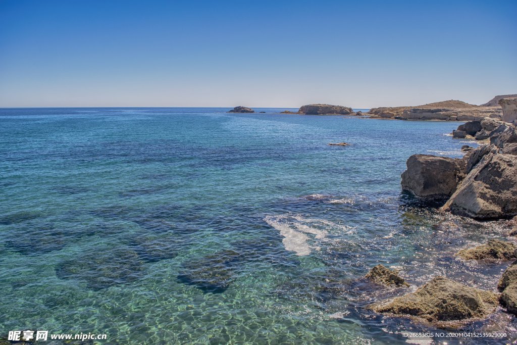
[{"label": "dark submerged rock patch in green shallows, lowest on the left side", "polygon": [[138,254],[126,247],[87,252],[66,260],[56,267],[60,279],[84,281],[92,290],[133,282],[141,277],[142,266]]}]

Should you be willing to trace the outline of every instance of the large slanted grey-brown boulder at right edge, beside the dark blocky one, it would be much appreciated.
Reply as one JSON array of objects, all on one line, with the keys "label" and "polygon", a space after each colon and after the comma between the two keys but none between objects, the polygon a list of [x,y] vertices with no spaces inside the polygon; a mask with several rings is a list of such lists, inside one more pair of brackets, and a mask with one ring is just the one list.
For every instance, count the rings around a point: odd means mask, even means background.
[{"label": "large slanted grey-brown boulder at right edge, beside the dark blocky one", "polygon": [[517,156],[486,154],[442,209],[477,219],[517,215]]}]

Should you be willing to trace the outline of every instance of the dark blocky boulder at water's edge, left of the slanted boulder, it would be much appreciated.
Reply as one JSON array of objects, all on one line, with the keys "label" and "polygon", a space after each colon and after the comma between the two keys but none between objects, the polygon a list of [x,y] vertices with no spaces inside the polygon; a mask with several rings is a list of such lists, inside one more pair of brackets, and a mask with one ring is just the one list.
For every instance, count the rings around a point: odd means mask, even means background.
[{"label": "dark blocky boulder at water's edge, left of the slanted boulder", "polygon": [[413,155],[402,173],[402,189],[424,201],[447,200],[464,177],[461,159]]}]

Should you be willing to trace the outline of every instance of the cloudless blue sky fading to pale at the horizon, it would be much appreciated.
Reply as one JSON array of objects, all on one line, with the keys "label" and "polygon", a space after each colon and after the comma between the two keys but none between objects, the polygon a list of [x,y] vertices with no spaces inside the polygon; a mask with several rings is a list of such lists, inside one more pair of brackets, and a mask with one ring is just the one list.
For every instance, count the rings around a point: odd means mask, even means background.
[{"label": "cloudless blue sky fading to pale at the horizon", "polygon": [[0,107],[480,104],[517,1],[0,0]]}]

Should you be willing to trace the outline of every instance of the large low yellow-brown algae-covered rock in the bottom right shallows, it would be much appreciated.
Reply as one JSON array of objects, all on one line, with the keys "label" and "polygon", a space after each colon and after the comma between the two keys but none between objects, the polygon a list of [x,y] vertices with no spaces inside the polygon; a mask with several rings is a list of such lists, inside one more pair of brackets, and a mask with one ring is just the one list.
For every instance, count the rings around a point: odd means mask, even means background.
[{"label": "large low yellow-brown algae-covered rock in the bottom right shallows", "polygon": [[439,324],[485,318],[496,310],[497,304],[497,294],[493,292],[470,288],[445,277],[434,277],[417,291],[373,309]]}]

